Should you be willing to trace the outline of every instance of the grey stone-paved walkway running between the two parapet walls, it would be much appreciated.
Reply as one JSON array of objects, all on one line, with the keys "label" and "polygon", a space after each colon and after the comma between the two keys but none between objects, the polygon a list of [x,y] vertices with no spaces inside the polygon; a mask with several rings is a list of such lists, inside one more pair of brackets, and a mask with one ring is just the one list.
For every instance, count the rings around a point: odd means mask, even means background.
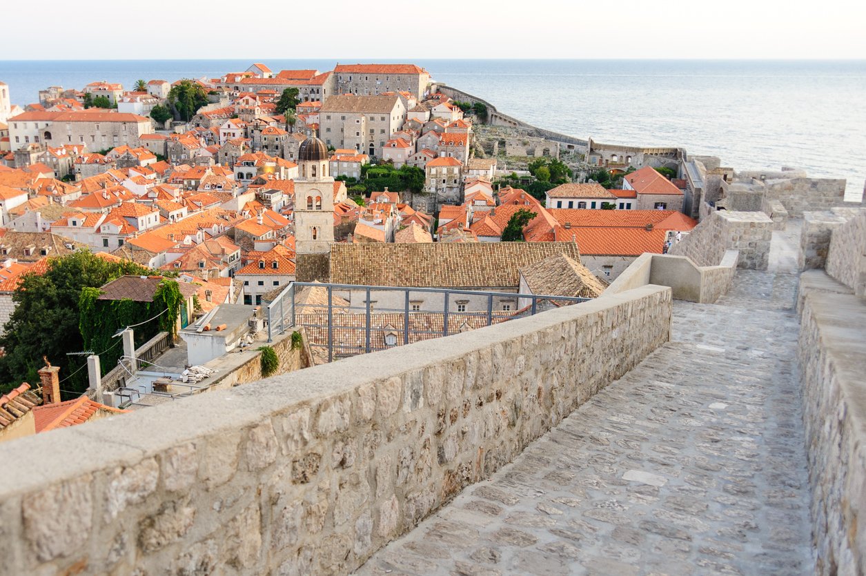
[{"label": "grey stone-paved walkway running between the two parapet walls", "polygon": [[671,342],[358,573],[813,572],[788,260],[677,301]]}]

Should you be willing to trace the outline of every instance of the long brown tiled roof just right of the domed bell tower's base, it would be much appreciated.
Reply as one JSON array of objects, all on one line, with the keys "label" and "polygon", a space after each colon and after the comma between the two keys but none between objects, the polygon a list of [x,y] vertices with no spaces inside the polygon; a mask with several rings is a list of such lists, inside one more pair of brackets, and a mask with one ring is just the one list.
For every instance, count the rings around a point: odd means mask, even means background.
[{"label": "long brown tiled roof just right of the domed bell tower's base", "polygon": [[577,245],[567,242],[336,243],[331,247],[331,282],[372,286],[517,288],[520,268],[558,254],[580,260]]}]

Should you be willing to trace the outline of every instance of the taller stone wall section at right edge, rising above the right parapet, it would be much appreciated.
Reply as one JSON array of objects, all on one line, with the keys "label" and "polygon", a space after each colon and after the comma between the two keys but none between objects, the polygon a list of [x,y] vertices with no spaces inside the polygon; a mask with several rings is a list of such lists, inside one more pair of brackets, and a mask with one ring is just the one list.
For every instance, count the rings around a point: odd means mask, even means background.
[{"label": "taller stone wall section at right edge, rising above the right parapet", "polygon": [[866,210],[834,210],[848,220],[833,230],[827,252],[827,274],[854,290],[866,294]]}]

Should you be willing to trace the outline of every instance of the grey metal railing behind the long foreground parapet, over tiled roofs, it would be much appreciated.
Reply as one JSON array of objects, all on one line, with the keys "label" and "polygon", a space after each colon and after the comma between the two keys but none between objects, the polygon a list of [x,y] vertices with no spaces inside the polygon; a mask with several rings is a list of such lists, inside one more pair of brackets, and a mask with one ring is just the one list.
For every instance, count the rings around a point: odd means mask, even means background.
[{"label": "grey metal railing behind the long foreground parapet, over tiled roofs", "polygon": [[[359,299],[363,302],[353,303]],[[378,300],[385,305],[380,306]],[[292,282],[266,305],[268,342],[290,327],[304,327],[313,353],[326,350],[327,361],[332,362],[335,356],[385,350],[588,300],[450,288]]]}]

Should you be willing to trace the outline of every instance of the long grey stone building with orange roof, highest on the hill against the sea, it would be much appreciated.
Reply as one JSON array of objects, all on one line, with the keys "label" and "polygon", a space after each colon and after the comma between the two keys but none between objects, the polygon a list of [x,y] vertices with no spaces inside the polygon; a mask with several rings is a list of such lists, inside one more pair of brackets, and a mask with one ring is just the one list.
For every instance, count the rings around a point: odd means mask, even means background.
[{"label": "long grey stone building with orange roof, highest on the hill against the sea", "polygon": [[417,99],[428,94],[430,73],[414,64],[338,64],[336,94],[369,96],[409,92]]}]

